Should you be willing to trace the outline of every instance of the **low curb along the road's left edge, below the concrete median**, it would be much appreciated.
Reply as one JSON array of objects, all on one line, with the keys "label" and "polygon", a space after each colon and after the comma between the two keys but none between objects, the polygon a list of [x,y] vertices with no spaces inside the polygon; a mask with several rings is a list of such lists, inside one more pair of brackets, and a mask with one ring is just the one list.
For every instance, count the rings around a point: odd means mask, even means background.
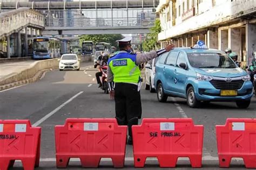
[{"label": "low curb along the road's left edge, below the concrete median", "polygon": [[[55,69],[55,68],[53,68],[53,69]],[[6,89],[10,89],[10,88],[13,88],[13,87],[16,87],[16,86],[21,86],[23,84],[28,84],[28,83],[36,82],[36,81],[41,79],[41,77],[43,76],[43,74],[45,72],[48,72],[48,71],[53,70],[53,69],[52,68],[50,68],[50,69],[43,69],[43,70],[40,70],[39,72],[37,72],[36,75],[33,76],[31,79],[22,80],[22,81],[18,81],[18,82],[14,82],[14,83],[5,84],[3,86],[0,86],[0,91],[6,90]]]}]

